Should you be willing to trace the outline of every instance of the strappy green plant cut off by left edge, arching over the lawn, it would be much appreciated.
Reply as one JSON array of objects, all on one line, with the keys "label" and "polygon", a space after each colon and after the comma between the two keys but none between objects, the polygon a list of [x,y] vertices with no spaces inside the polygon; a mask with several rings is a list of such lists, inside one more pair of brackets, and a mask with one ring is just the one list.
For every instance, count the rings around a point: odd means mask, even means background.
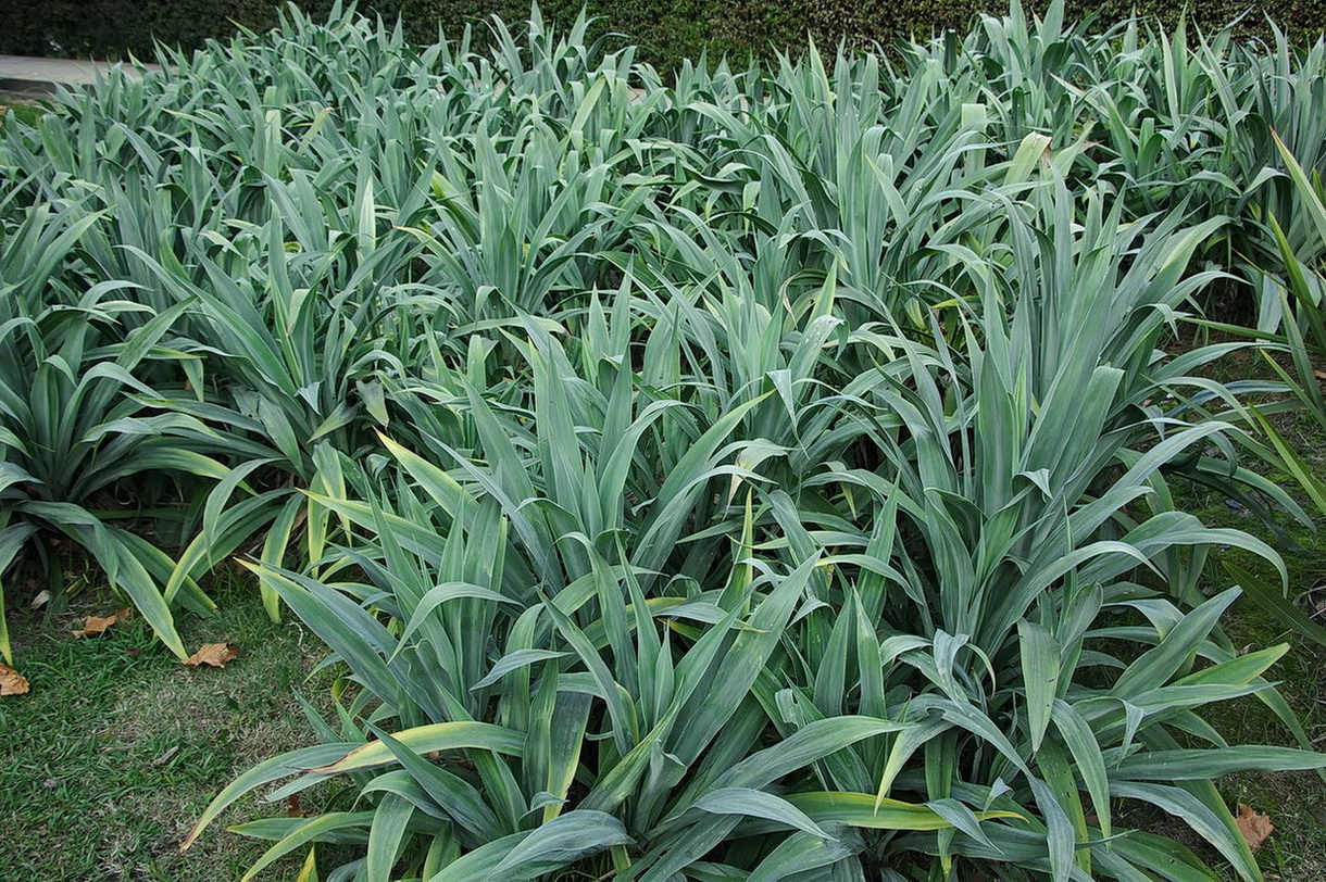
[{"label": "strappy green plant cut off by left edge, arching over the lawn", "polygon": [[[183,306],[126,328],[125,315],[147,311],[121,299],[131,285],[105,281],[70,291],[74,279],[52,275],[101,220],[77,205],[33,208],[4,241],[0,572],[30,572],[62,603],[64,555],[52,542],[61,535],[89,554],[111,588],[126,593],[162,642],[186,658],[171,603],[178,599],[204,614],[213,604],[192,579],[163,595],[174,562],[139,532],[107,523],[107,509],[119,507],[117,497],[130,479],[152,475],[158,495],[166,497],[159,483],[172,474],[217,478],[224,469],[191,449],[170,415],[133,397],[159,397],[139,379],[150,379],[154,363],[188,358],[162,344]],[[42,302],[48,285],[70,293],[69,301]],[[125,514],[151,506],[150,487],[139,483]],[[3,599],[0,593],[0,604]],[[0,653],[12,661],[3,625]]]}]

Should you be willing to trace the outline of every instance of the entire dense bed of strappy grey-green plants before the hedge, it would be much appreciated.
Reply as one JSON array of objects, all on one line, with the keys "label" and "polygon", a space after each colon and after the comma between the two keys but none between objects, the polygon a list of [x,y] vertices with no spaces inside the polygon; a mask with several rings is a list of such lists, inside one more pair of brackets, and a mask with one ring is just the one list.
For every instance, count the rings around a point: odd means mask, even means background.
[{"label": "entire dense bed of strappy grey-green plants before the hedge", "polygon": [[666,83],[292,8],[5,122],[8,593],[91,560],[183,657],[237,558],[328,644],[199,822],[342,781],[255,873],[1261,878],[1212,779],[1326,759],[1220,620],[1313,632],[1174,489],[1326,502],[1264,417],[1321,403],[1326,44],[1062,12]]}]

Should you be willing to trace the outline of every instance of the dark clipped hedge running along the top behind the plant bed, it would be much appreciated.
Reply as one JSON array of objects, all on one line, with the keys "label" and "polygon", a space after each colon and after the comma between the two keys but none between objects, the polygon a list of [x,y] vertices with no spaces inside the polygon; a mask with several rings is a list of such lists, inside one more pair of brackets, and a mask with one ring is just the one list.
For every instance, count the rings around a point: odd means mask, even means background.
[{"label": "dark clipped hedge running along the top behind the plant bed", "polygon": [[[333,0],[298,0],[314,17]],[[581,0],[545,0],[544,19],[554,25],[574,20]],[[1029,9],[1045,3],[1028,3]],[[235,25],[271,28],[284,7],[276,0],[3,0],[0,53],[72,57],[154,57],[154,41],[195,49],[210,37],[224,38]],[[680,58],[703,49],[745,57],[769,57],[780,49],[796,50],[809,33],[821,46],[928,37],[943,29],[965,29],[981,12],[1004,12],[1004,3],[980,0],[589,0],[598,17],[597,32],[626,34],[640,46],[640,58],[670,69]],[[1326,0],[1067,0],[1067,16],[1097,15],[1102,24],[1119,21],[1134,9],[1172,26],[1188,8],[1189,20],[1213,32],[1242,16],[1244,36],[1265,36],[1266,19],[1274,20],[1296,41],[1315,40],[1326,28]],[[524,21],[526,0],[365,0],[359,9],[398,17],[415,42],[434,42],[438,28],[459,34],[467,21],[499,15],[508,23]],[[487,29],[476,28],[483,40]]]}]

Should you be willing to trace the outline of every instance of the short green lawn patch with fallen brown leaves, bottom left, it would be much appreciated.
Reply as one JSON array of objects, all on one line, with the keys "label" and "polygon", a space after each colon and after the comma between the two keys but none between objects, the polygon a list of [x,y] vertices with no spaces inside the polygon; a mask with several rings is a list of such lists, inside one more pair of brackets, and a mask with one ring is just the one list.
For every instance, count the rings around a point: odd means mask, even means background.
[{"label": "short green lawn patch with fallen brown leaves, bottom left", "polygon": [[[191,650],[236,644],[225,669],[180,665],[142,620],[72,637],[76,612],[115,607],[105,593],[49,618],[11,611],[32,691],[0,702],[0,879],[237,879],[261,854],[220,828],[179,845],[237,772],[310,738],[293,690],[326,693],[325,675],[310,682],[325,649],[297,624],[272,624],[252,587],[229,595],[180,628]],[[301,809],[318,808],[305,795]],[[252,799],[229,818],[285,810]]]}]

